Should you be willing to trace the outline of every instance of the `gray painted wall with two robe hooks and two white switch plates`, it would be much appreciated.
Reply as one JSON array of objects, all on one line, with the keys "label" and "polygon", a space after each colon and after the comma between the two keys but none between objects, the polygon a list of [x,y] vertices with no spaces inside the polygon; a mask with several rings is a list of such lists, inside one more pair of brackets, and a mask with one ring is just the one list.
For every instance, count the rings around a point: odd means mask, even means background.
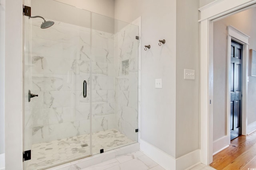
[{"label": "gray painted wall with two robe hooks and two white switch plates", "polygon": [[[199,149],[199,1],[177,0],[176,6],[174,2],[164,0],[151,4],[116,0],[115,18],[131,22],[142,16],[142,46],[150,44],[152,48],[150,53],[142,49],[141,137],[178,158]],[[175,15],[173,10],[169,9],[169,14],[164,12],[170,6],[176,8],[176,20],[167,18],[171,13]],[[163,47],[171,49],[171,53],[163,53],[164,48],[157,45],[159,39],[166,39]],[[176,44],[175,49],[170,42]],[[172,63],[175,59],[176,63]],[[167,68],[171,66],[175,70]],[[184,80],[184,68],[195,70],[196,80]],[[163,89],[154,88],[155,78],[163,79]],[[173,90],[176,97],[166,98]],[[157,140],[163,136],[164,141]],[[188,139],[190,145],[187,145]]]}]

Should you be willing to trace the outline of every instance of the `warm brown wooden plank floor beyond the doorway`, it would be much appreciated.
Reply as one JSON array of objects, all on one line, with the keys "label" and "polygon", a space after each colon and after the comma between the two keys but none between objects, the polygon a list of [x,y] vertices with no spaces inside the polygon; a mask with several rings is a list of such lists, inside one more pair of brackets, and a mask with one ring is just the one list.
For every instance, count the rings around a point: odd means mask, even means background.
[{"label": "warm brown wooden plank floor beyond the doorway", "polygon": [[216,170],[256,170],[256,131],[233,139],[228,148],[213,156],[210,166]]}]

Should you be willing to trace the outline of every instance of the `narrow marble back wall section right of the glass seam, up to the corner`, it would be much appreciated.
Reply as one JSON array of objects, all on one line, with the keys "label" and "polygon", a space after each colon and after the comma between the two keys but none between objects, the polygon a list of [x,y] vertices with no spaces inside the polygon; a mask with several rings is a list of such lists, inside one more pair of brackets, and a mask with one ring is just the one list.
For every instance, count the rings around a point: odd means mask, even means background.
[{"label": "narrow marble back wall section right of the glass seam, up to the corner", "polygon": [[114,34],[92,30],[92,131],[114,128]]}]

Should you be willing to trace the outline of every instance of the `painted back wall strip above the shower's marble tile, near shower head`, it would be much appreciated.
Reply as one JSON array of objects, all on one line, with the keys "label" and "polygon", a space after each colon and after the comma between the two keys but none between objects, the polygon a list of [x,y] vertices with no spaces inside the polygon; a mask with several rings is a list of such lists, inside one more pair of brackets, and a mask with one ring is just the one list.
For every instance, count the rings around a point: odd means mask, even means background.
[{"label": "painted back wall strip above the shower's marble tile, near shower head", "polygon": [[[60,1],[60,0],[58,0]],[[99,14],[92,15],[93,29],[114,33],[114,1],[113,0],[87,0],[88,2],[55,0],[32,0],[32,16],[42,16],[47,20],[56,20],[90,29],[90,11]],[[80,0],[81,1],[81,0]],[[100,5],[97,8],[97,3]],[[70,6],[70,5],[76,5]],[[104,6],[102,6],[104,5]],[[58,8],[58,12],[57,9]],[[47,10],[46,10],[47,9]],[[86,10],[81,10],[86,9]],[[111,13],[108,14],[108,13]],[[112,18],[102,16],[111,16]]]}]

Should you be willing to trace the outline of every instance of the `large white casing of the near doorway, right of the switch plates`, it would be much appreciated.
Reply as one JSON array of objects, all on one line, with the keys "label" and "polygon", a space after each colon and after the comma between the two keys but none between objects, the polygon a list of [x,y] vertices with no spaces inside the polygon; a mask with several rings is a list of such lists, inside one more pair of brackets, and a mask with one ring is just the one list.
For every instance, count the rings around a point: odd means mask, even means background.
[{"label": "large white casing of the near doorway, right of the switch plates", "polygon": [[[212,163],[213,160],[213,108],[211,104],[213,96],[213,21],[251,8],[255,3],[256,0],[215,0],[199,8],[200,161],[206,165]],[[248,75],[245,76],[245,78],[247,77]],[[243,131],[246,130],[245,128]]]}]

